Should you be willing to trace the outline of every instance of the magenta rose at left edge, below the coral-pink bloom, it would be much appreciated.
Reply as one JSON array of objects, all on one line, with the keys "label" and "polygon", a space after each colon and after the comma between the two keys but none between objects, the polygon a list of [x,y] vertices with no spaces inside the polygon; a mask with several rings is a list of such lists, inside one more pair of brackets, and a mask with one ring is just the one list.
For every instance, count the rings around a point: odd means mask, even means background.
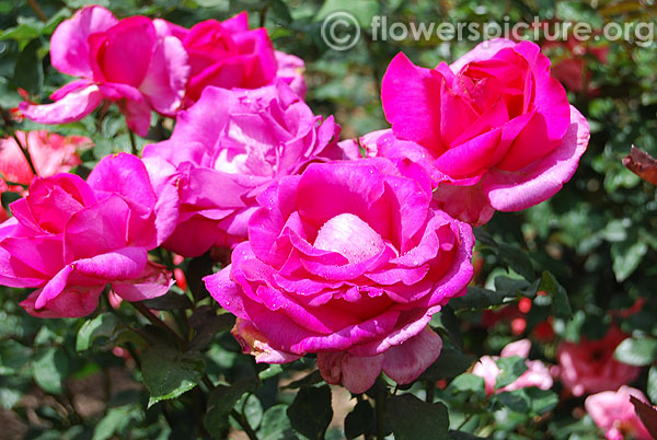
[{"label": "magenta rose at left edge, below the coral-pink bloom", "polygon": [[171,275],[148,260],[171,231],[155,205],[146,167],[130,154],[103,159],[87,182],[36,178],[0,225],[0,283],[36,288],[21,305],[41,317],[90,314],[107,283],[127,301],[166,293]]}]

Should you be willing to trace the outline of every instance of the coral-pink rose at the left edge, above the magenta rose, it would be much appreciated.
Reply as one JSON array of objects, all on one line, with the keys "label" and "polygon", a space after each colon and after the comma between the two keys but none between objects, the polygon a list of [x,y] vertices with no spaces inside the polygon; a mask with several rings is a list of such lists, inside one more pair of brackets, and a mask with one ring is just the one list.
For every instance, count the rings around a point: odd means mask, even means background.
[{"label": "coral-pink rose at the left edge, above the magenta rose", "polygon": [[[18,140],[27,148],[34,169],[41,177],[66,173],[82,163],[78,150],[92,146],[84,136],[59,136],[46,130],[16,131]],[[14,138],[0,139],[0,192],[9,190],[5,181],[30,185],[34,173]]]}]

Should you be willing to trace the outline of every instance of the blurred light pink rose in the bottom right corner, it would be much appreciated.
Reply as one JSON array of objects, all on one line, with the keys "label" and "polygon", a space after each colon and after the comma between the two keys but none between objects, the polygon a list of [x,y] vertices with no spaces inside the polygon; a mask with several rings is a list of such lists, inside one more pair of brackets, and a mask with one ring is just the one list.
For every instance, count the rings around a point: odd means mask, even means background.
[{"label": "blurred light pink rose in the bottom right corner", "polygon": [[604,391],[590,395],[584,406],[598,428],[604,431],[609,440],[637,439],[652,440],[653,436],[643,425],[630,397],[634,396],[646,404],[644,394],[630,386],[621,386],[619,391]]}]

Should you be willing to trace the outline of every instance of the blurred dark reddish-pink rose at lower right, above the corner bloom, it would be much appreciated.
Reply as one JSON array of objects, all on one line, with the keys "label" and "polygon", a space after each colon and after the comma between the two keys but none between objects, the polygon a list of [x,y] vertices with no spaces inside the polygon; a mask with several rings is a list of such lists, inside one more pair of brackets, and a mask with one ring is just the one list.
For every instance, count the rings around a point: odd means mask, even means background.
[{"label": "blurred dark reddish-pink rose at lower right, above the corner bloom", "polygon": [[615,348],[627,336],[612,325],[602,339],[588,340],[584,337],[576,343],[564,341],[558,346],[556,357],[561,380],[574,395],[618,390],[634,381],[641,369],[614,359]]}]

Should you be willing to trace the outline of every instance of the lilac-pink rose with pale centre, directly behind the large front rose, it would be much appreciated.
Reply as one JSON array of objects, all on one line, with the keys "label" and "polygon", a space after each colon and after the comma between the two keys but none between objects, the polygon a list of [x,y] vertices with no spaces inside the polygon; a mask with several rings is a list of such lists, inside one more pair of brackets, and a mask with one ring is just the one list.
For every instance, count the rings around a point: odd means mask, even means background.
[{"label": "lilac-pink rose with pale centre, directly behind the large front rose", "polygon": [[245,240],[255,197],[311,161],[337,157],[338,130],[283,82],[207,88],[169,140],[143,150],[158,194],[176,200],[177,228],[164,247],[188,257]]}]

